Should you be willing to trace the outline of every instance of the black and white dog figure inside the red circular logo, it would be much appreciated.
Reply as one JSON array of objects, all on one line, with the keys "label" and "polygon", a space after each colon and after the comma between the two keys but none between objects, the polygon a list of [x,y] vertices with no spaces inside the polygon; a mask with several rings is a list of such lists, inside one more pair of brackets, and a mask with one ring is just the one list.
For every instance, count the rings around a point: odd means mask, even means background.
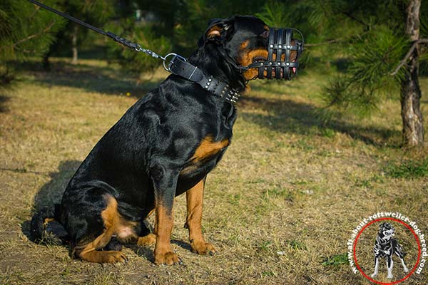
[{"label": "black and white dog figure inside the red circular logo", "polygon": [[379,259],[387,258],[387,267],[388,267],[388,278],[392,279],[392,266],[394,261],[392,257],[394,254],[397,254],[399,260],[402,261],[402,266],[404,272],[409,272],[406,264],[404,264],[404,255],[401,245],[397,242],[397,239],[394,239],[395,229],[391,224],[384,222],[379,226],[379,232],[376,237],[376,242],[374,243],[373,252],[374,252],[374,272],[371,275],[372,278],[377,276],[379,270]]}]

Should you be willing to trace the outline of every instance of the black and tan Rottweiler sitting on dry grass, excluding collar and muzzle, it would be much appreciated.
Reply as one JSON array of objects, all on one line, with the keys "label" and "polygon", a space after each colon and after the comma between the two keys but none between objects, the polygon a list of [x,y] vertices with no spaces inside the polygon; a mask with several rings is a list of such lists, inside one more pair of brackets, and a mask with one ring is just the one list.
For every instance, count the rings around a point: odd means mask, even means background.
[{"label": "black and tan Rottweiler sitting on dry grass, excluding collar and muzzle", "polygon": [[[269,28],[253,16],[211,22],[188,62],[242,92],[267,58]],[[292,56],[295,51],[292,51]],[[68,233],[73,258],[126,261],[121,242],[156,242],[154,262],[176,264],[170,247],[174,197],[186,193],[190,245],[214,253],[201,231],[205,177],[223,156],[236,119],[233,103],[171,75],[138,100],[93,147],[63,193],[61,204],[37,212],[34,239],[55,219]],[[156,212],[150,232],[144,220]]]}]

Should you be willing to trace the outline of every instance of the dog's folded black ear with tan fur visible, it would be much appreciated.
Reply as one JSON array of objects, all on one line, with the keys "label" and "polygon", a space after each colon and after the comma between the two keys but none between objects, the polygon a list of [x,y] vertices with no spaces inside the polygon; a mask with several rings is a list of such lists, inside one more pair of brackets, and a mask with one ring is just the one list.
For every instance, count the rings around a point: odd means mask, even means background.
[{"label": "dog's folded black ear with tan fur visible", "polygon": [[232,31],[233,19],[211,19],[208,28],[198,41],[198,46],[202,47],[205,43],[224,43]]}]

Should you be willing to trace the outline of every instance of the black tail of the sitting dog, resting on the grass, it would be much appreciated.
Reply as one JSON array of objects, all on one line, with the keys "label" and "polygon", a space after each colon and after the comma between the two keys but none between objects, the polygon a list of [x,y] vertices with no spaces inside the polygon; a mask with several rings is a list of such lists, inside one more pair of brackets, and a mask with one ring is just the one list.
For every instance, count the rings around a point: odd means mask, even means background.
[{"label": "black tail of the sitting dog, resting on the grass", "polygon": [[60,204],[54,204],[49,207],[44,207],[36,212],[31,219],[31,239],[36,243],[61,243],[60,237],[53,237],[52,234],[46,232],[46,226],[58,217],[58,208]]}]

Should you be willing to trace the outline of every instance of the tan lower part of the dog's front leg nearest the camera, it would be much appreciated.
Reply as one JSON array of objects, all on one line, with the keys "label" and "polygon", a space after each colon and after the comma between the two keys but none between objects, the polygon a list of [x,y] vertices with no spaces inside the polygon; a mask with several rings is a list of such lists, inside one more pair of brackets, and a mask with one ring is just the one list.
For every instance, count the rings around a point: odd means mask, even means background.
[{"label": "tan lower part of the dog's front leg nearest the camera", "polygon": [[171,250],[170,238],[173,230],[173,213],[161,203],[156,202],[156,247],[155,264],[177,264],[179,262],[177,254]]}]

